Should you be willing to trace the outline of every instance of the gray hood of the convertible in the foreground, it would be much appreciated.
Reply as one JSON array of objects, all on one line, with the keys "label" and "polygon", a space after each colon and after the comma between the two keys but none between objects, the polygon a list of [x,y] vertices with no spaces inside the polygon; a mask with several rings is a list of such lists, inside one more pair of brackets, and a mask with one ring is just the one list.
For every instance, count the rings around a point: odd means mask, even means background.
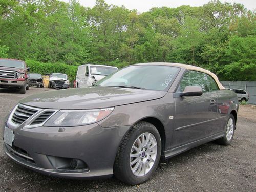
[{"label": "gray hood of the convertible in the foreground", "polygon": [[47,109],[97,109],[158,99],[165,94],[164,91],[89,87],[35,94],[20,103]]}]

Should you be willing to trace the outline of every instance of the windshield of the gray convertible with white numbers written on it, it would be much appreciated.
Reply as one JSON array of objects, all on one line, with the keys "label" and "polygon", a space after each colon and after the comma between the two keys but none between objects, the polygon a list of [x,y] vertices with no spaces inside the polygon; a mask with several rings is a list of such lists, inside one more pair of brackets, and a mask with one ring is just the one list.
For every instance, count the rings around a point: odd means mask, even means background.
[{"label": "windshield of the gray convertible with white numbers written on it", "polygon": [[178,72],[179,68],[172,66],[129,66],[101,79],[95,86],[130,86],[163,91],[173,83]]}]

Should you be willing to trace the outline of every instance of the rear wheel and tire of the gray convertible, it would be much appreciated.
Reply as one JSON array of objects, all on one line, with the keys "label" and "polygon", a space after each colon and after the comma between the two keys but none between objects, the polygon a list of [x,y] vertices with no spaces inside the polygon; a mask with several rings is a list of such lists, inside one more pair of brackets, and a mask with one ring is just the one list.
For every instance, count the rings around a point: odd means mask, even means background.
[{"label": "rear wheel and tire of the gray convertible", "polygon": [[234,116],[230,114],[227,119],[227,123],[225,126],[225,136],[217,139],[217,143],[221,145],[230,145],[233,137],[234,137],[234,130],[236,129],[236,121],[234,120]]}]

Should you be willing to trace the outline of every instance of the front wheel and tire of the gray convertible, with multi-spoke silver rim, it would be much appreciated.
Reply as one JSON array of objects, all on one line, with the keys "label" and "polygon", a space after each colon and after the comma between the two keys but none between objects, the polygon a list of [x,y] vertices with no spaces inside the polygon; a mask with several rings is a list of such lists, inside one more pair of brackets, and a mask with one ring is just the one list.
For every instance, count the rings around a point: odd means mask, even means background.
[{"label": "front wheel and tire of the gray convertible, with multi-spoke silver rim", "polygon": [[136,185],[150,179],[161,155],[161,137],[156,127],[138,122],[126,134],[119,146],[114,175],[124,183]]}]

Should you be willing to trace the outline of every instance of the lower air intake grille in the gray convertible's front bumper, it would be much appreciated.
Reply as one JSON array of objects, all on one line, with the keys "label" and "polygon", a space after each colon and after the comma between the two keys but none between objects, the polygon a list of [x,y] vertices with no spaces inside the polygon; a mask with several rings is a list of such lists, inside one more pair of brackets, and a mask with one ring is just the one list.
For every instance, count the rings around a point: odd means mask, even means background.
[{"label": "lower air intake grille in the gray convertible's front bumper", "polygon": [[13,156],[22,159],[26,162],[35,164],[34,159],[29,155],[29,153],[22,148],[16,147],[16,146],[9,146],[8,144],[5,144],[7,150],[9,153],[11,153]]}]

